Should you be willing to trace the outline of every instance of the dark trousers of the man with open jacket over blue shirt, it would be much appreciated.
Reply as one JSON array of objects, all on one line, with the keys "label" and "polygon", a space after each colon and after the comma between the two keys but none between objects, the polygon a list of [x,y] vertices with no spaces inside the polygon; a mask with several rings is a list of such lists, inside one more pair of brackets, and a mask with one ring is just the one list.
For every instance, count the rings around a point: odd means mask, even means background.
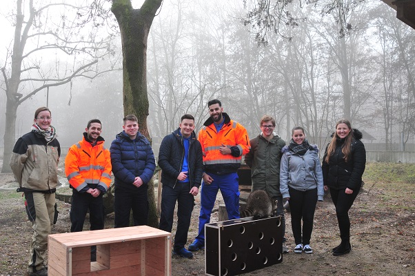
[{"label": "dark trousers of the man with open jacket over blue shirt", "polygon": [[179,252],[188,241],[190,218],[194,207],[194,197],[190,192],[190,183],[177,182],[173,187],[163,186],[161,193],[161,230],[172,232],[174,207],[177,201],[177,229],[174,236],[174,251]]}]

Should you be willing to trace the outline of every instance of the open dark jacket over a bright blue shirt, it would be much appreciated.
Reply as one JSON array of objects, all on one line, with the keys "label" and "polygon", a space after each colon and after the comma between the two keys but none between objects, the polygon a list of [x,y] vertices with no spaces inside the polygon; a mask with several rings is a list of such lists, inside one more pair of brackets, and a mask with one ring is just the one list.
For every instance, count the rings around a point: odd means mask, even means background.
[{"label": "open dark jacket over a bright blue shirt", "polygon": [[[177,177],[181,172],[181,165],[185,155],[183,137],[180,135],[180,128],[172,134],[164,137],[159,149],[159,166],[161,168],[161,182],[165,186],[174,187]],[[189,172],[190,186],[201,186],[203,173],[202,147],[192,132],[189,146]]]}]

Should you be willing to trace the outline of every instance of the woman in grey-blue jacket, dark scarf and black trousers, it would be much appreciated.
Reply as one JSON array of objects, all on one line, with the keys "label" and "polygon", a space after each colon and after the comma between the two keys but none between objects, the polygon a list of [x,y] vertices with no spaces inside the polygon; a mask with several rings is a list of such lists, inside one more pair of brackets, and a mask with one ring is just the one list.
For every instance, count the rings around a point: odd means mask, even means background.
[{"label": "woman in grey-blue jacket, dark scarf and black trousers", "polygon": [[[304,129],[292,129],[289,146],[282,150],[280,168],[280,190],[283,198],[290,202],[292,235],[296,247],[294,253],[313,253],[310,239],[313,230],[314,210],[317,200],[323,201],[323,172],[318,159],[317,146],[310,146]],[[301,219],[303,235],[301,235]]]}]

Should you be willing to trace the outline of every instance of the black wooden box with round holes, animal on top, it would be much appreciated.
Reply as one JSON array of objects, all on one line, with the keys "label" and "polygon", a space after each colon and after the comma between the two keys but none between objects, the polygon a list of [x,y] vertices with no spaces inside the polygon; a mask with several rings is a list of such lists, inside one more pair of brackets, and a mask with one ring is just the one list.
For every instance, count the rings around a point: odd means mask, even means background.
[{"label": "black wooden box with round holes, animal on top", "polygon": [[229,276],[283,262],[281,217],[205,225],[206,275]]}]

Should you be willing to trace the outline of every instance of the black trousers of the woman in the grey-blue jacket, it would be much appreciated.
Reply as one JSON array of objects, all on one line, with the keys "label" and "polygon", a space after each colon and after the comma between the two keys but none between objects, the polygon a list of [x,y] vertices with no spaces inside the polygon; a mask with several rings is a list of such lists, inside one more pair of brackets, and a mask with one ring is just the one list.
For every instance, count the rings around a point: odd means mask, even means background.
[{"label": "black trousers of the woman in the grey-blue jacket", "polygon": [[[310,244],[313,231],[314,211],[317,204],[317,188],[312,190],[290,191],[290,212],[292,235],[296,244]],[[301,219],[303,220],[303,235],[301,236]]]}]

